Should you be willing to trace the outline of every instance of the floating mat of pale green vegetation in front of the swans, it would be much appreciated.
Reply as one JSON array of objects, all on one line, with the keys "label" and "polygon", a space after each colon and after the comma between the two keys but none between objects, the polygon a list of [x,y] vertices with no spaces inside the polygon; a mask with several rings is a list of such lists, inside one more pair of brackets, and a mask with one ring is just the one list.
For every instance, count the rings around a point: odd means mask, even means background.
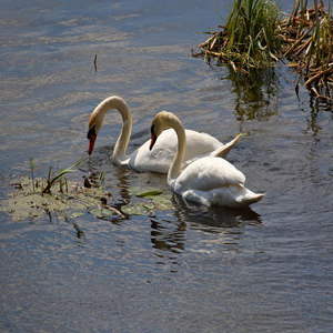
[{"label": "floating mat of pale green vegetation in front of the swans", "polygon": [[[82,157],[83,158],[83,157]],[[1,201],[0,212],[9,213],[14,221],[38,219],[52,214],[78,219],[90,213],[98,219],[125,219],[129,215],[154,214],[157,210],[171,210],[171,194],[154,188],[129,189],[131,202],[109,203],[112,194],[104,190],[104,172],[91,173],[83,181],[75,182],[63,178],[75,171],[82,158],[74,165],[60,170],[51,176],[51,169],[47,179],[36,178],[33,160],[30,159],[30,176],[27,174],[12,182],[13,192]]]}]

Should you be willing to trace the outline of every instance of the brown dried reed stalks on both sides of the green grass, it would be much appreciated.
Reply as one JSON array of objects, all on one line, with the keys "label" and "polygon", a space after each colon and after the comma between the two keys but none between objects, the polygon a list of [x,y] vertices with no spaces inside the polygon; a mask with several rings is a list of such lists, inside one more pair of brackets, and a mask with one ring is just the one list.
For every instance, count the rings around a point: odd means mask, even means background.
[{"label": "brown dried reed stalks on both sides of the green grass", "polygon": [[[289,65],[294,68],[300,78],[301,75],[304,77],[304,85],[309,90],[313,91],[317,97],[323,97],[317,90],[324,90],[326,94],[324,98],[331,99],[333,82],[333,20],[331,13],[324,8],[323,1],[320,2],[317,4],[317,0],[314,0],[314,7],[311,9],[305,8],[305,6],[300,9],[300,1],[296,0],[292,14],[281,12],[287,18],[281,19],[279,23],[282,52],[278,58],[286,59],[291,62]],[[301,1],[301,4],[303,6],[304,3]],[[238,6],[240,6],[239,1],[235,2],[228,23],[218,26],[214,32],[208,32],[211,37],[198,46],[201,52],[192,56],[204,57],[209,60],[213,58],[220,63],[230,64],[234,71],[248,73],[245,69],[251,61],[250,51],[248,54],[250,58],[246,58],[243,53],[236,54],[234,51],[231,52],[229,48],[232,36],[228,30],[228,24],[231,22],[233,13],[239,10]],[[261,49],[270,51],[266,48],[268,46]],[[270,56],[272,59],[276,58],[275,54]],[[275,64],[271,61],[256,64],[256,67]]]}]

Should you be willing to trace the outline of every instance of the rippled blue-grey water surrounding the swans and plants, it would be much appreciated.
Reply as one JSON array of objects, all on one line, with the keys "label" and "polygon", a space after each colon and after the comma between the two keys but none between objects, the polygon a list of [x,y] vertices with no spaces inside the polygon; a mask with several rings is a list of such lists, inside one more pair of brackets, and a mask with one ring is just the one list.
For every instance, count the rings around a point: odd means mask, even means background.
[{"label": "rippled blue-grey water surrounding the swans and plants", "polygon": [[[249,83],[188,57],[205,38],[195,32],[221,23],[215,9],[221,1],[1,2],[3,175],[28,171],[30,158],[41,175],[74,163],[91,110],[119,94],[133,114],[130,149],[163,109],[223,142],[249,132],[229,159],[268,193],[249,211],[174,195],[154,218],[1,213],[1,332],[332,330],[331,105],[303,88],[299,100],[289,69]],[[104,170],[115,202],[137,185],[170,192],[163,175],[110,163],[119,129],[109,114],[74,176]],[[0,184],[4,199],[11,188]]]}]

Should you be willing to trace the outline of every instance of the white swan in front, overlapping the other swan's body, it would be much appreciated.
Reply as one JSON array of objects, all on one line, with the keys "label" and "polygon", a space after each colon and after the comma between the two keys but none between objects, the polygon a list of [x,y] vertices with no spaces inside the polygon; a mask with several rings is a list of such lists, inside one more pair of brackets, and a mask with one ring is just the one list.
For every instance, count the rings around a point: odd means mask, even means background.
[{"label": "white swan in front, overlapping the other swan's body", "polygon": [[248,190],[244,174],[221,158],[199,158],[182,171],[186,135],[173,113],[162,111],[152,121],[150,149],[167,128],[174,129],[178,135],[176,154],[168,172],[168,183],[175,193],[201,204],[230,208],[249,206],[265,195]]}]

